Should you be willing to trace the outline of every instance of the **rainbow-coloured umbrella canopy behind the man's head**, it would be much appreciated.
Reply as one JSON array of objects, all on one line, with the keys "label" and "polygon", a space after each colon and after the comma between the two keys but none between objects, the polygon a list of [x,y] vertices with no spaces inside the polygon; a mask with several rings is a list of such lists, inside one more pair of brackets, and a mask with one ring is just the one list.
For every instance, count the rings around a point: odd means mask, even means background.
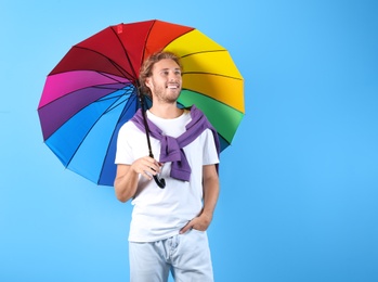
[{"label": "rainbow-coloured umbrella canopy behind the man's head", "polygon": [[47,77],[38,114],[45,144],[65,167],[113,185],[118,130],[140,107],[140,67],[160,50],[181,57],[179,105],[195,104],[217,129],[221,150],[231,144],[244,116],[244,89],[227,50],[193,27],[119,24],[75,44]]}]

